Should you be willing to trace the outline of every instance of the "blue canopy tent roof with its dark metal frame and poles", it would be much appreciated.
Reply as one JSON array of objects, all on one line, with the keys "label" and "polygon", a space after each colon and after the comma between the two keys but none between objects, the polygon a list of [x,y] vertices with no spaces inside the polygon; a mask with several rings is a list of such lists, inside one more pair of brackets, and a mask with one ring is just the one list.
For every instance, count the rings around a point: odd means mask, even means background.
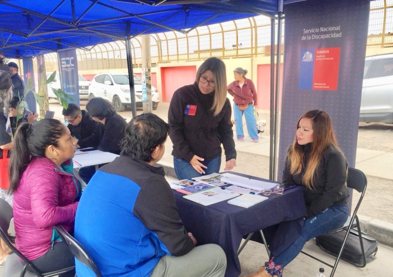
[{"label": "blue canopy tent roof with its dark metal frame and poles", "polygon": [[[277,32],[277,68],[271,52],[271,130],[276,130],[283,6],[302,0],[0,0],[0,53],[8,58],[35,56],[69,48],[89,50],[97,44],[125,40],[130,80],[129,39],[136,35],[265,15],[271,17],[271,44]],[[274,47],[272,47],[274,49]],[[132,82],[132,81],[131,81]],[[131,99],[134,99],[130,83]],[[135,116],[135,103],[132,114]],[[270,179],[273,177],[276,132],[271,132]]]}]

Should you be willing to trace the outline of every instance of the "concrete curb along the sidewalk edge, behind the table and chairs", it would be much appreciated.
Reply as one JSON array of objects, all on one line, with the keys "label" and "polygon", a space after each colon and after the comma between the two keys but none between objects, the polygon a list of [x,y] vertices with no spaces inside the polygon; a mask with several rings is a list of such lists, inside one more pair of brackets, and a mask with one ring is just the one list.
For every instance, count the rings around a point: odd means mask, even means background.
[{"label": "concrete curb along the sidewalk edge, behind the table and chairs", "polygon": [[[164,168],[165,176],[177,179],[175,169],[171,163],[158,162],[157,166]],[[358,215],[362,231],[376,239],[379,243],[393,247],[393,224],[381,220],[372,219],[366,216]]]}]

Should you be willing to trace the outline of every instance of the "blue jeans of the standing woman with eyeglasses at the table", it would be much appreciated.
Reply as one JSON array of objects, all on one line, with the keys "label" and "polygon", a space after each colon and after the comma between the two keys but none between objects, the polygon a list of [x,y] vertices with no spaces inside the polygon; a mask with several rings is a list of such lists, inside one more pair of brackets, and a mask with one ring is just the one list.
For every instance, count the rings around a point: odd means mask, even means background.
[{"label": "blue jeans of the standing woman with eyeglasses at the table", "polygon": [[173,165],[175,167],[176,176],[178,176],[179,180],[183,179],[192,179],[194,177],[199,177],[203,175],[209,175],[211,173],[218,173],[220,171],[221,166],[221,156],[217,156],[210,161],[203,161],[201,164],[207,166],[208,168],[203,168],[205,174],[201,174],[191,166],[190,163],[184,161],[183,159],[179,159],[173,157]]}]

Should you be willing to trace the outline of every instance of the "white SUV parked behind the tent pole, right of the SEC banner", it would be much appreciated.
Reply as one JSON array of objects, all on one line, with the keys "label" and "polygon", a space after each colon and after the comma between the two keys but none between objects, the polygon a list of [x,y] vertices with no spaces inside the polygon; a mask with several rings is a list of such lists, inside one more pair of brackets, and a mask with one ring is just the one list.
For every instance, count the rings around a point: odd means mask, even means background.
[{"label": "white SUV parked behind the tent pole, right of the SEC banner", "polygon": [[[142,79],[134,75],[136,108],[142,108]],[[131,105],[130,80],[128,73],[100,73],[94,76],[89,86],[89,99],[102,97],[113,104],[116,111],[124,111]],[[157,88],[152,86],[153,110],[159,103]]]}]

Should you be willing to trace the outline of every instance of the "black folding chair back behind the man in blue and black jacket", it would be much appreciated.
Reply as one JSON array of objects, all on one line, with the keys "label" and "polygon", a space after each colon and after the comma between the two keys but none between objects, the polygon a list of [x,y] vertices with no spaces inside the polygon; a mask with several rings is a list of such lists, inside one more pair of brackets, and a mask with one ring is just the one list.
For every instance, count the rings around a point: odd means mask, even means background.
[{"label": "black folding chair back behind the man in blue and black jacket", "polygon": [[59,233],[60,237],[65,241],[71,250],[71,253],[85,266],[89,267],[97,277],[102,277],[100,270],[94,263],[92,257],[87,253],[86,249],[71,236],[60,224],[54,226]]}]

